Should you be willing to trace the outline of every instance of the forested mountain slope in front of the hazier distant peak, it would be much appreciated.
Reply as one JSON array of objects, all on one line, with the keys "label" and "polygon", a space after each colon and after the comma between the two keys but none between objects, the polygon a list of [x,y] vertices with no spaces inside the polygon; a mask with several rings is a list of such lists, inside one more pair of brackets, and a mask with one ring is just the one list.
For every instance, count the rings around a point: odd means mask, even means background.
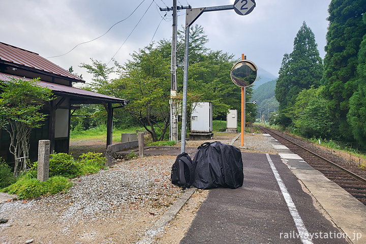
[{"label": "forested mountain slope in front of the hazier distant peak", "polygon": [[277,79],[261,84],[253,90],[253,100],[257,102],[257,118],[264,114],[264,119],[268,121],[269,113],[278,110],[279,103],[275,98]]}]

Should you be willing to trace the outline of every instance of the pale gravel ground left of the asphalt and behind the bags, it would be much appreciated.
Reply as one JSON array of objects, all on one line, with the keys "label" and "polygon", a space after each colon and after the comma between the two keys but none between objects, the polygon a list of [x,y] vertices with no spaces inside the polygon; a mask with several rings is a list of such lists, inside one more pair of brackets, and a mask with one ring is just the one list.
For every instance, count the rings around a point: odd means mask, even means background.
[{"label": "pale gravel ground left of the asphalt and behind the bags", "polygon": [[[230,135],[225,136],[209,141],[229,144]],[[187,141],[187,146],[203,142]],[[239,147],[240,138],[234,145]],[[241,150],[276,153],[261,134],[246,134]],[[0,224],[0,243],[136,243],[182,194],[170,182],[174,160],[150,156],[118,161],[73,179],[67,193],[1,203],[0,218],[9,221]],[[179,243],[207,194],[196,191],[154,243]]]}]

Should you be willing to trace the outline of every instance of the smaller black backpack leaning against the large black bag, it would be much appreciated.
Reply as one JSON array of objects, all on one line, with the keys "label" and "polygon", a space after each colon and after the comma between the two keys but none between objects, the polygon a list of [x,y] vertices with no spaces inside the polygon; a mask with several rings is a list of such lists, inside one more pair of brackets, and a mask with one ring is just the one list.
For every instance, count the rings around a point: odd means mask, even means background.
[{"label": "smaller black backpack leaning against the large black bag", "polygon": [[192,159],[187,153],[177,156],[171,171],[171,182],[175,186],[182,187],[183,190],[190,188],[194,181],[195,167]]}]

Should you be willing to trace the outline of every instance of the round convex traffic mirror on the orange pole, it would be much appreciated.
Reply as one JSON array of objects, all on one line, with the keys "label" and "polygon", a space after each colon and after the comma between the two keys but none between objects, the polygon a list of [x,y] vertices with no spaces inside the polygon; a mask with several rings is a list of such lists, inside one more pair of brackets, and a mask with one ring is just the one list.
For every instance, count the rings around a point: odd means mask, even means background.
[{"label": "round convex traffic mirror on the orange pole", "polygon": [[237,86],[250,86],[257,79],[257,70],[257,66],[251,60],[240,60],[231,69],[231,80]]}]

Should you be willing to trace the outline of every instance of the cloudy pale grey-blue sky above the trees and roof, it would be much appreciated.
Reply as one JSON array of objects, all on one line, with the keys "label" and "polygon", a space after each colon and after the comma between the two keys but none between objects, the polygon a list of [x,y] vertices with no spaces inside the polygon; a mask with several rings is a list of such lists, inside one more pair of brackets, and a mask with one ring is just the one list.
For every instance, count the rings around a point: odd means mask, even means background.
[{"label": "cloudy pale grey-blue sky above the trees and roof", "polygon": [[[0,42],[39,53],[46,58],[64,54],[77,44],[104,34],[114,23],[128,17],[141,2],[0,0]],[[178,1],[178,5],[190,4],[192,8],[233,3],[234,0]],[[240,16],[233,10],[206,12],[195,24],[204,28],[209,39],[208,48],[233,53],[237,58],[244,53],[257,66],[278,76],[283,54],[292,51],[293,40],[303,21],[314,32],[320,56],[324,58],[329,3],[330,0],[256,0],[256,8],[249,15]],[[150,43],[156,30],[154,41],[171,40],[171,12],[162,20],[165,12],[161,12],[158,6],[171,7],[172,0],[145,0],[131,17],[115,25],[102,38],[49,60],[64,69],[73,66],[75,72],[82,74],[86,81],[90,76],[78,66],[90,63],[90,58],[108,63],[121,47],[114,58],[124,64],[130,53]],[[178,17],[181,28],[185,22],[185,10],[179,11],[178,15],[181,15]]]}]

